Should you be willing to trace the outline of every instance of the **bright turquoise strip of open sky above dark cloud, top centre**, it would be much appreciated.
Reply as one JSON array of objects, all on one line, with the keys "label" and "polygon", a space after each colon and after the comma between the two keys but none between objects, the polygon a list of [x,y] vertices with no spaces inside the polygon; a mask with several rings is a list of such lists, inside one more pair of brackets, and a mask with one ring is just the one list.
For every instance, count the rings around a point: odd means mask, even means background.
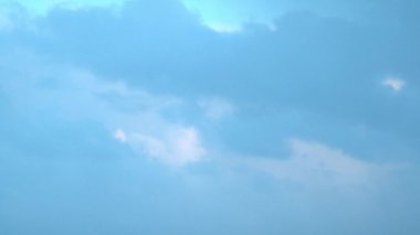
[{"label": "bright turquoise strip of open sky above dark cloud, top centre", "polygon": [[[294,12],[316,12],[324,17],[355,19],[349,2],[306,0],[182,0],[185,6],[199,14],[206,25],[217,32],[239,32],[243,24],[259,23],[275,31],[274,23],[281,17]],[[357,12],[357,11],[356,11]]]}]

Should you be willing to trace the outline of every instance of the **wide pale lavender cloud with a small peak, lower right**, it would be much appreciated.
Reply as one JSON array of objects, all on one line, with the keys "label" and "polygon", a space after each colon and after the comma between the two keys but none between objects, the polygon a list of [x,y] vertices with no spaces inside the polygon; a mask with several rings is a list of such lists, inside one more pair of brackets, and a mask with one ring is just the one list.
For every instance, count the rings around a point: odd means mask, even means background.
[{"label": "wide pale lavender cloud with a small peak, lower right", "polygon": [[293,139],[288,145],[292,150],[288,159],[252,159],[249,163],[280,180],[309,186],[368,185],[388,169],[317,142]]}]

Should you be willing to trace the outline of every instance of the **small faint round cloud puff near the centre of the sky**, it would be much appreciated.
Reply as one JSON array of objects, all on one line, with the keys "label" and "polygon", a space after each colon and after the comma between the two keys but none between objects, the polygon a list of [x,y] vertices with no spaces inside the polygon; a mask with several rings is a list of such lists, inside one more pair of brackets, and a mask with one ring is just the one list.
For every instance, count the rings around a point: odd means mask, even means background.
[{"label": "small faint round cloud puff near the centre of the sky", "polygon": [[235,111],[235,107],[223,98],[201,98],[197,102],[198,106],[202,108],[206,116],[212,119],[221,119]]}]

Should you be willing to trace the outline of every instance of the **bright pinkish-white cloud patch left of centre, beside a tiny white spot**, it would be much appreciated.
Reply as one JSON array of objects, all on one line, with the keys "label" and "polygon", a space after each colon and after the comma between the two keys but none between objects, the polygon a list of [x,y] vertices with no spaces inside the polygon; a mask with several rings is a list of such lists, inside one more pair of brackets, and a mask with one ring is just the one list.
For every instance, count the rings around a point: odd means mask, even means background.
[{"label": "bright pinkish-white cloud patch left of centre, beside a tiny white spot", "polygon": [[178,127],[159,135],[133,133],[130,143],[135,149],[175,167],[197,162],[206,156],[207,151],[192,127]]}]

